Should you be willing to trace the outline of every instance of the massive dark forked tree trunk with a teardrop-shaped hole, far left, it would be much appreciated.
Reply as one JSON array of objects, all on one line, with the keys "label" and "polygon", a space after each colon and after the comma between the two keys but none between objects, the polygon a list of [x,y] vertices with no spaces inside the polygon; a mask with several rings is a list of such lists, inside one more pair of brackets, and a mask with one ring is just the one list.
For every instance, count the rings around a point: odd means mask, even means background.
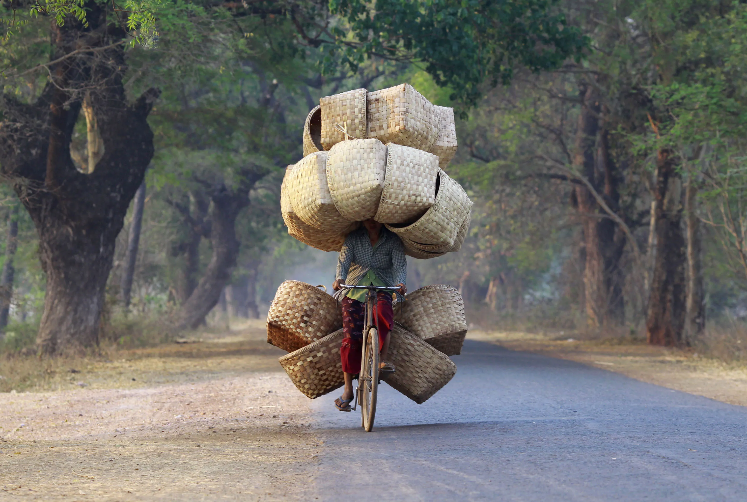
[{"label": "massive dark forked tree trunk with a teardrop-shaped hole, far left", "polygon": [[[108,25],[102,4],[85,5],[87,28],[52,20],[51,80],[34,104],[4,95],[0,126],[1,169],[39,233],[47,286],[37,345],[46,354],[96,345],[114,241],[153,155],[146,117],[158,92],[127,103],[125,54],[114,46],[125,34]],[[88,174],[75,169],[69,149],[86,92],[104,145]]]}]

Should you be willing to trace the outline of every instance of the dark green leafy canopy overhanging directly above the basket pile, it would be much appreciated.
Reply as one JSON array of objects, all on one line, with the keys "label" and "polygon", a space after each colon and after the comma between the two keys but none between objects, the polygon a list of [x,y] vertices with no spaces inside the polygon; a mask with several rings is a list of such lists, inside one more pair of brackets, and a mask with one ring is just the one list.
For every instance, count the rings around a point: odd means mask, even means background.
[{"label": "dark green leafy canopy overhanging directly above the basket pile", "polygon": [[[373,55],[417,60],[451,100],[477,104],[489,82],[507,84],[516,66],[533,72],[557,69],[577,60],[589,44],[580,31],[554,11],[554,0],[332,0],[329,10],[347,26],[331,33],[341,60],[355,69]],[[349,28],[349,31],[346,31]],[[338,65],[335,51],[323,61],[327,72]]]}]

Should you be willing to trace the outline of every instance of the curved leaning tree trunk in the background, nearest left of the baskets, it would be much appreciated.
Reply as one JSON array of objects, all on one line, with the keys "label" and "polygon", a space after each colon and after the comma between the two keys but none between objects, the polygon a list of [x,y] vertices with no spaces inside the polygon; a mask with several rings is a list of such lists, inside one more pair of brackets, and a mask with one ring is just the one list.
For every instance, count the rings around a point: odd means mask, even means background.
[{"label": "curved leaning tree trunk in the background, nearest left of the baskets", "polygon": [[175,316],[176,327],[194,329],[215,307],[220,292],[231,278],[236,266],[239,242],[236,239],[236,217],[249,205],[249,190],[264,175],[264,169],[247,170],[241,174],[241,183],[229,191],[222,183],[211,195],[210,242],[213,248],[210,263],[192,295]]}]

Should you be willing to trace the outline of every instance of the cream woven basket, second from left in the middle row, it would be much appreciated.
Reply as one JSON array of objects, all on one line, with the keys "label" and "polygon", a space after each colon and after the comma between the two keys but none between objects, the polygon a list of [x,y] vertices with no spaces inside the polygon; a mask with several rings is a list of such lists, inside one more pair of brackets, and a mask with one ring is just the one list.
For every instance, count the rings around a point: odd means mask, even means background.
[{"label": "cream woven basket, second from left in the middle row", "polygon": [[386,175],[386,146],[378,139],[349,139],[327,155],[329,193],[340,214],[351,222],[373,218]]}]

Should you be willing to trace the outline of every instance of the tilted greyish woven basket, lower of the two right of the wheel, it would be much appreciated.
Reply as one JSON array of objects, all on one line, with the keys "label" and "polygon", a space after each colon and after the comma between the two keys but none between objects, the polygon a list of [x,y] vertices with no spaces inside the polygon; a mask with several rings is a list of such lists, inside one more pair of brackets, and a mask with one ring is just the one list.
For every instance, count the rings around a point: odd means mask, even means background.
[{"label": "tilted greyish woven basket, lower of the two right of the wheel", "polygon": [[397,371],[385,382],[418,404],[423,404],[456,374],[456,365],[426,342],[394,325],[389,341],[388,363]]}]

